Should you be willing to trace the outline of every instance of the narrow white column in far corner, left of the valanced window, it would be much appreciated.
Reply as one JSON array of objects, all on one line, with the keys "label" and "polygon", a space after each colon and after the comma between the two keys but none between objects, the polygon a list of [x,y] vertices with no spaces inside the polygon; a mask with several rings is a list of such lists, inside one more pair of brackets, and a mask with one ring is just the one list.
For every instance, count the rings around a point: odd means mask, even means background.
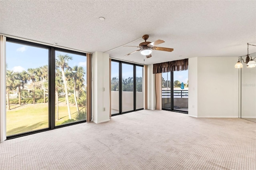
[{"label": "narrow white column in far corner, left of the valanced window", "polygon": [[156,109],[156,87],[155,74],[153,74],[153,64],[148,65],[148,109]]}]

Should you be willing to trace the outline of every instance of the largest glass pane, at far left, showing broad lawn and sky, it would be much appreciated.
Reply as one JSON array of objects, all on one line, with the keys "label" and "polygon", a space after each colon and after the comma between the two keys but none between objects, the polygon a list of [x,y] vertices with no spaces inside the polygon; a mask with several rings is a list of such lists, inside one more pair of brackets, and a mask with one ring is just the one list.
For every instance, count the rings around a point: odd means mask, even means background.
[{"label": "largest glass pane, at far left, showing broad lawn and sky", "polygon": [[48,49],[6,42],[6,135],[48,128]]}]

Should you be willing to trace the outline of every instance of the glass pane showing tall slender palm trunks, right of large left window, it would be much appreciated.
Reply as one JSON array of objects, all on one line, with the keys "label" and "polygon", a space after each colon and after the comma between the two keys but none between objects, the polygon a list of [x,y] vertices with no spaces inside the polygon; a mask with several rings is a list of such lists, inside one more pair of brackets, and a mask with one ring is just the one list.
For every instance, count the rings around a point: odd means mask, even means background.
[{"label": "glass pane showing tall slender palm trunks, right of large left window", "polygon": [[55,125],[84,121],[86,56],[61,51],[56,51],[55,56]]}]

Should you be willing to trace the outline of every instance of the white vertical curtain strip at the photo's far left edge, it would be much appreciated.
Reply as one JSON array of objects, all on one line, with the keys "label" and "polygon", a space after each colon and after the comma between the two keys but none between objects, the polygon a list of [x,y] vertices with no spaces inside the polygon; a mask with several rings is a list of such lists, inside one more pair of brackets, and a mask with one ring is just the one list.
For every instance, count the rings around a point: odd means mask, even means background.
[{"label": "white vertical curtain strip at the photo's far left edge", "polygon": [[0,142],[6,140],[6,37],[0,35]]}]

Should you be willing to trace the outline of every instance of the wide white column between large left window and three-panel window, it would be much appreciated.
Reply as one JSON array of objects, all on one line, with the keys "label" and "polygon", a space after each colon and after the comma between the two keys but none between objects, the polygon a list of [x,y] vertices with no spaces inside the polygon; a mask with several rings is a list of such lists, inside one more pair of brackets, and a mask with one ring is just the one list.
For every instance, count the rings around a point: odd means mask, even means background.
[{"label": "wide white column between large left window and three-panel window", "polygon": [[109,54],[96,51],[92,55],[92,121],[110,121]]}]

